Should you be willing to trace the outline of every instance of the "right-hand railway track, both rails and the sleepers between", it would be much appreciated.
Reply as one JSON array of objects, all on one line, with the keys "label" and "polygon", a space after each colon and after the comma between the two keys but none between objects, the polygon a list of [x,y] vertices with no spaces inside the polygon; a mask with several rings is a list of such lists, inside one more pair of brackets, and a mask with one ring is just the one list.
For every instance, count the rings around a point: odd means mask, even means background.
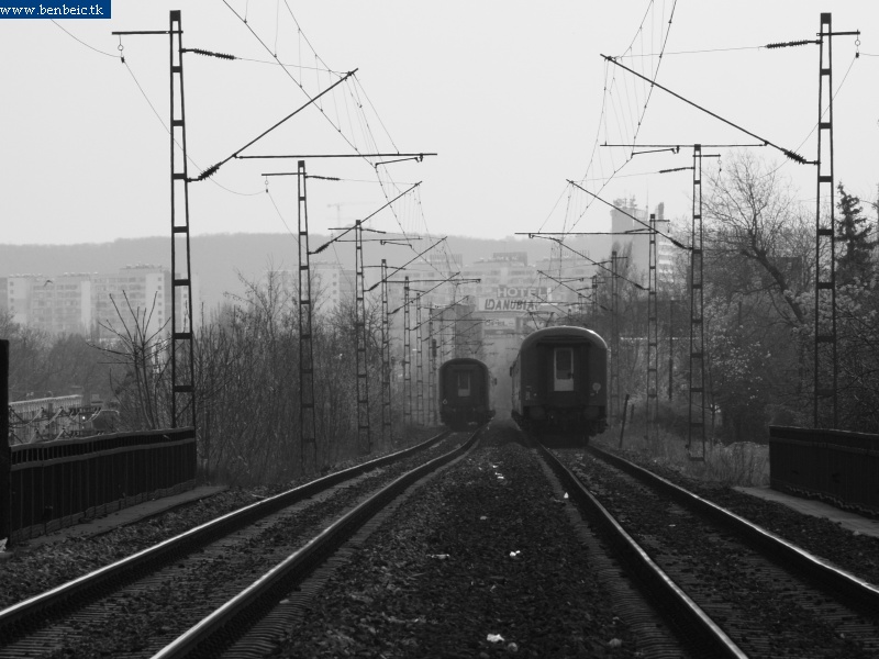
[{"label": "right-hand railway track, both rails and the sleepers between", "polygon": [[650,589],[675,587],[691,602],[689,613],[674,605],[687,615],[677,623],[686,634],[699,628],[708,643],[721,633],[728,651],[753,658],[879,656],[875,585],[622,458],[596,448],[556,453],[566,483],[589,490],[578,498],[620,520],[602,526],[637,541],[614,540]]}]

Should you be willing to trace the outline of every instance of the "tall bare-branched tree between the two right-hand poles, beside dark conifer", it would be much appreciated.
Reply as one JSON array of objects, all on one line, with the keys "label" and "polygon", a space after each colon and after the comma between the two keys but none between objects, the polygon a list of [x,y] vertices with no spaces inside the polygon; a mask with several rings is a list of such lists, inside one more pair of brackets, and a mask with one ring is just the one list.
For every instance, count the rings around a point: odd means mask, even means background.
[{"label": "tall bare-branched tree between the two right-hand poles, beside dark conifer", "polygon": [[814,217],[777,168],[749,153],[708,179],[709,387],[737,437],[779,411],[802,420],[808,410]]}]

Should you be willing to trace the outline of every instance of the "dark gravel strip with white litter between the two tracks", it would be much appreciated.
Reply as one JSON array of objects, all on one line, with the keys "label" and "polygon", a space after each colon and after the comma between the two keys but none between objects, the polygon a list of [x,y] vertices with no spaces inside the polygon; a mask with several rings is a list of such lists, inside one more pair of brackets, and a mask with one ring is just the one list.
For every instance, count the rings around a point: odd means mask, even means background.
[{"label": "dark gravel strip with white litter between the two tracks", "polygon": [[414,491],[283,657],[635,657],[565,506],[511,427]]}]

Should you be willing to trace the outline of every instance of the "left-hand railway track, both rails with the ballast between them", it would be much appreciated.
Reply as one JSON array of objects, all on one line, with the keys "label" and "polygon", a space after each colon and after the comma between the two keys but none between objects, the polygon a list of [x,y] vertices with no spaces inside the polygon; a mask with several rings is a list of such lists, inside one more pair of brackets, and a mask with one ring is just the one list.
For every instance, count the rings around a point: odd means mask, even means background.
[{"label": "left-hand railway track, both rails with the ballast between them", "polygon": [[[0,657],[148,657],[193,625],[210,627],[199,621],[241,592],[248,605],[277,602],[277,589],[292,588],[327,547],[476,438],[446,435],[260,501],[9,606],[0,611]],[[234,607],[238,622],[224,621],[226,633],[248,624],[241,600]]]}]

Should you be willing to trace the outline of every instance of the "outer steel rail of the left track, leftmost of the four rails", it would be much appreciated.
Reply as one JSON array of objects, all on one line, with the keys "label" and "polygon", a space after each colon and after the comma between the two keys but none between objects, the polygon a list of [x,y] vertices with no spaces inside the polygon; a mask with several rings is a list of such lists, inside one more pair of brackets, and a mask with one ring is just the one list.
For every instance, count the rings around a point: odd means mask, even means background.
[{"label": "outer steel rail of the left track, leftmost of the four rails", "polygon": [[429,448],[446,437],[443,432],[410,448],[376,458],[361,465],[355,465],[335,473],[310,481],[303,485],[281,492],[243,509],[227,513],[210,522],[191,528],[173,538],[163,540],[136,554],[127,556],[109,566],[93,570],[67,583],[63,583],[38,595],[8,606],[0,611],[0,644],[21,637],[27,629],[36,627],[51,617],[56,611],[69,607],[71,601],[92,597],[113,581],[134,578],[151,566],[169,561],[174,557],[190,551],[193,546],[205,544],[215,537],[244,526],[285,506],[302,501],[341,482],[360,476],[372,469],[383,467]]}]

